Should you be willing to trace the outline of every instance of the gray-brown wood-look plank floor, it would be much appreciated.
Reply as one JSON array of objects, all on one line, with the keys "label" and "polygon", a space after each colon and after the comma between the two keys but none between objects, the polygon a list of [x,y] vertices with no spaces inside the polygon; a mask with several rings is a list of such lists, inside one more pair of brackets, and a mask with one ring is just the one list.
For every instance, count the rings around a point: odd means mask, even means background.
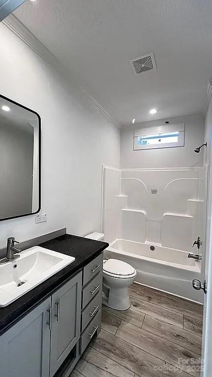
[{"label": "gray-brown wood-look plank floor", "polygon": [[203,307],[135,283],[130,298],[124,312],[103,306],[70,377],[199,377]]}]

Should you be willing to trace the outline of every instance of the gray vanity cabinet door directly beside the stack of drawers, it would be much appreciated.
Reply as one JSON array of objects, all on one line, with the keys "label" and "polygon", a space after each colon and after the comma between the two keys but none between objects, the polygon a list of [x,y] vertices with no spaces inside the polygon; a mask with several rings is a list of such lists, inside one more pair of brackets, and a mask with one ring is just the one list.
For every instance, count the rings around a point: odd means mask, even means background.
[{"label": "gray vanity cabinet door directly beside the stack of drawers", "polygon": [[52,296],[50,377],[79,340],[81,280],[79,272]]}]

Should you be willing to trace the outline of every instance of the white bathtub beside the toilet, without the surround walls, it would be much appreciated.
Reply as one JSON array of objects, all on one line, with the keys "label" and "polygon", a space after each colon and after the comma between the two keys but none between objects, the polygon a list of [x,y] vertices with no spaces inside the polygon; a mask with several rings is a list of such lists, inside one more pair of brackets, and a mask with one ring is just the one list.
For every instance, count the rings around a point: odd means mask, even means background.
[{"label": "white bathtub beside the toilet, without the surround walls", "polygon": [[104,251],[104,258],[132,265],[137,271],[136,282],[202,302],[202,292],[192,288],[193,279],[201,280],[201,262],[187,255],[183,250],[122,239],[111,242]]}]

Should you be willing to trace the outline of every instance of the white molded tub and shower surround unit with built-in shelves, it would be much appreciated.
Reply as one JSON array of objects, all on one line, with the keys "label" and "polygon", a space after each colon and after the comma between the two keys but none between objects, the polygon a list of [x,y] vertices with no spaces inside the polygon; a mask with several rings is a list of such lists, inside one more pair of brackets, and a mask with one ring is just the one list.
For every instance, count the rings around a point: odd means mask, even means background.
[{"label": "white molded tub and shower surround unit with built-in shelves", "polygon": [[[208,165],[123,170],[104,166],[102,231],[112,250],[108,257],[136,269],[138,263],[140,283],[201,301],[202,295],[191,288],[192,279],[200,278],[201,262],[187,255],[202,254],[204,259],[207,181]],[[199,250],[192,248],[197,237],[203,242]],[[114,240],[128,243],[114,247]],[[154,252],[149,245],[155,246]]]}]

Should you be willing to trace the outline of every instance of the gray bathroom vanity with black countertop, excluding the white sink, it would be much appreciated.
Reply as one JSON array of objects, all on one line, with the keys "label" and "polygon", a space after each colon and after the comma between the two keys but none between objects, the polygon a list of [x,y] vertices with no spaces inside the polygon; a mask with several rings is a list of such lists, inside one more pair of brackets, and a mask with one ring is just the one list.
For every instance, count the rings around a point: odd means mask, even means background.
[{"label": "gray bathroom vanity with black countertop, excluding the white sink", "polygon": [[108,244],[65,234],[40,246],[75,261],[0,308],[2,377],[68,377],[101,329]]}]

